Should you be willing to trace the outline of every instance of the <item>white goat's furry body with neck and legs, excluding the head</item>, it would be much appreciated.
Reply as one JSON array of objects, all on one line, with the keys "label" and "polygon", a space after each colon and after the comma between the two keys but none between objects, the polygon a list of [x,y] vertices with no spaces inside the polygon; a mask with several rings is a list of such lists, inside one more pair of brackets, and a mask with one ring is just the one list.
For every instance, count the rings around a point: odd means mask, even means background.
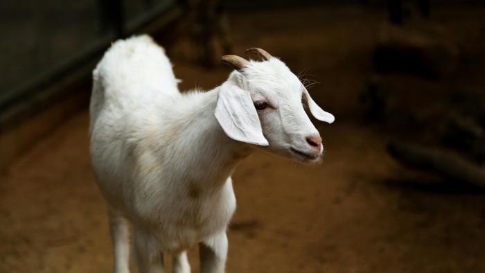
[{"label": "white goat's furry body with neck and legs, excluding the head", "polygon": [[[164,272],[164,253],[174,254],[175,272],[190,272],[185,251],[197,243],[201,271],[224,271],[225,231],[236,209],[230,175],[254,143],[268,145],[259,121],[259,140],[245,141],[228,133],[231,121],[215,117],[224,86],[240,85],[240,75],[234,71],[211,91],[181,94],[164,49],[146,35],[114,43],[94,70],[91,165],[109,205],[114,272],[128,271],[128,221],[142,272]],[[254,118],[255,109],[243,110]],[[240,116],[228,116],[242,128]],[[310,152],[300,153],[294,156]]]}]

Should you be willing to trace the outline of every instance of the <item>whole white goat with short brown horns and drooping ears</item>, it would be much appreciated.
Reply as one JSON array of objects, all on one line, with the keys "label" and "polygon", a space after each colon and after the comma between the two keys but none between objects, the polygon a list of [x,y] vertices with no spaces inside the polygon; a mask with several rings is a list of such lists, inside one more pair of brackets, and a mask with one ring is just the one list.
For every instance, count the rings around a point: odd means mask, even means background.
[{"label": "whole white goat with short brown horns and drooping ears", "polygon": [[201,272],[224,272],[226,229],[236,209],[231,173],[255,148],[303,162],[323,152],[301,103],[334,117],[297,76],[261,49],[263,62],[222,57],[233,71],[211,91],[179,93],[164,49],[146,35],[120,40],[93,72],[91,164],[109,204],[114,272],[128,272],[129,222],[141,272],[190,272],[186,249],[199,243]]}]

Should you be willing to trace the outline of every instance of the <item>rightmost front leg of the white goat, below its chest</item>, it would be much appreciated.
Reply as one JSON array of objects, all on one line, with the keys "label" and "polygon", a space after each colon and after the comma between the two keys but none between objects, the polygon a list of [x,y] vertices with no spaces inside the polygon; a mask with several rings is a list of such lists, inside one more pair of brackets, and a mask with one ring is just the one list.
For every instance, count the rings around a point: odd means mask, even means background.
[{"label": "rightmost front leg of the white goat, below its chest", "polygon": [[227,258],[226,231],[199,243],[200,272],[222,273]]}]

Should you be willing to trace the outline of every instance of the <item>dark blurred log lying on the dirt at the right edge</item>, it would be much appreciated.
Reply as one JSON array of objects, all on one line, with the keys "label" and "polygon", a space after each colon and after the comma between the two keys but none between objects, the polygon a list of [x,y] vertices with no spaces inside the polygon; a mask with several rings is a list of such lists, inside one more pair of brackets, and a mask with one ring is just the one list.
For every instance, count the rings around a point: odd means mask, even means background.
[{"label": "dark blurred log lying on the dirt at the right edge", "polygon": [[485,187],[485,170],[443,150],[391,142],[387,147],[392,157],[401,163],[432,171],[448,179]]}]

